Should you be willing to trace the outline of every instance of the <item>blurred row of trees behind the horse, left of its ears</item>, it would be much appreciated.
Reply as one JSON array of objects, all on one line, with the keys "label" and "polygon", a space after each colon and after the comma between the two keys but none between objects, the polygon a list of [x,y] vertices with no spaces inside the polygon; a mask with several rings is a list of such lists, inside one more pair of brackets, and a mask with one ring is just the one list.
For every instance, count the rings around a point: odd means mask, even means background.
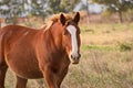
[{"label": "blurred row of trees behind the horse, left of its ears", "polygon": [[44,19],[49,14],[71,12],[80,0],[0,0],[0,18],[17,22],[18,16],[35,15]]}]

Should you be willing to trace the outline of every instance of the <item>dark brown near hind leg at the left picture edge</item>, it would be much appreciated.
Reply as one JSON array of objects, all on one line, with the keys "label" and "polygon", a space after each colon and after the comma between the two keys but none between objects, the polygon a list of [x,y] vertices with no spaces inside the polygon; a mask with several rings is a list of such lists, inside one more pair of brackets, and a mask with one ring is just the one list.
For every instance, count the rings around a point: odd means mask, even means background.
[{"label": "dark brown near hind leg at the left picture edge", "polygon": [[0,88],[4,88],[4,78],[8,66],[3,58],[0,58]]}]

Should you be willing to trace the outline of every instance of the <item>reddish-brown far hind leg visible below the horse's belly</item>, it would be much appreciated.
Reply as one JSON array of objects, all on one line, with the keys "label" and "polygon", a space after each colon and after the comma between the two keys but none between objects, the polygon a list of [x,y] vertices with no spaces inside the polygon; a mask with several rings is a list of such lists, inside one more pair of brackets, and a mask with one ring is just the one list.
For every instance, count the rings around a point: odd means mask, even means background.
[{"label": "reddish-brown far hind leg visible below the horse's belly", "polygon": [[25,88],[28,79],[17,76],[17,86],[16,88]]}]

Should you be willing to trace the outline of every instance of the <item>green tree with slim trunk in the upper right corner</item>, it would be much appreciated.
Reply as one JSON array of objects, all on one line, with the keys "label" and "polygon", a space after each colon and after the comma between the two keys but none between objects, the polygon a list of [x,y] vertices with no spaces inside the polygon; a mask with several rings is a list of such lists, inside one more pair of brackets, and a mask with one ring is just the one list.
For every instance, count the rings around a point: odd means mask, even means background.
[{"label": "green tree with slim trunk in the upper right corner", "polygon": [[114,13],[117,12],[120,22],[123,22],[122,13],[129,9],[133,9],[132,0],[92,0],[93,2],[104,4],[106,10]]}]

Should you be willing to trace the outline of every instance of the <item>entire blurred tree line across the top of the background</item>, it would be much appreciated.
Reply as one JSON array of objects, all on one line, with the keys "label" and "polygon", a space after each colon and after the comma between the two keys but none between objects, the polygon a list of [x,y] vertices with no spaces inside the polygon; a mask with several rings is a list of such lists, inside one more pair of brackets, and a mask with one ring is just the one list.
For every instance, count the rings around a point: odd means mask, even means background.
[{"label": "entire blurred tree line across the top of the background", "polygon": [[[72,12],[82,0],[0,0],[0,18],[16,23],[18,16],[35,15],[43,20],[47,15],[59,12]],[[102,12],[117,13],[123,22],[123,13],[129,10],[133,13],[133,0],[86,0],[81,7],[90,13],[90,4],[99,3],[104,9]]]}]

